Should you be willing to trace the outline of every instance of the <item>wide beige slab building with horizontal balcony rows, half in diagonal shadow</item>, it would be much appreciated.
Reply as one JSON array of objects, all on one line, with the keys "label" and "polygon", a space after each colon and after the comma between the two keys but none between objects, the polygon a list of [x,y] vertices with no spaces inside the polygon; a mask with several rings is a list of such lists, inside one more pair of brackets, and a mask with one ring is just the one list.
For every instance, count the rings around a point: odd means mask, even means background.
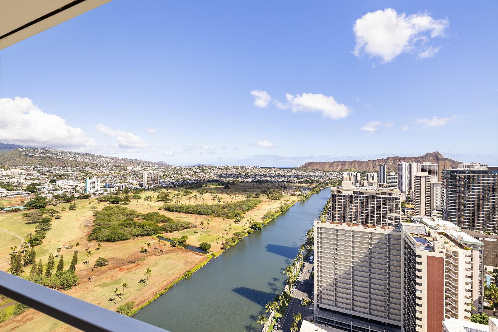
[{"label": "wide beige slab building with horizontal balcony rows, half in diagonal shadow", "polygon": [[390,226],[316,222],[315,321],[331,325],[347,314],[399,331],[401,240]]}]

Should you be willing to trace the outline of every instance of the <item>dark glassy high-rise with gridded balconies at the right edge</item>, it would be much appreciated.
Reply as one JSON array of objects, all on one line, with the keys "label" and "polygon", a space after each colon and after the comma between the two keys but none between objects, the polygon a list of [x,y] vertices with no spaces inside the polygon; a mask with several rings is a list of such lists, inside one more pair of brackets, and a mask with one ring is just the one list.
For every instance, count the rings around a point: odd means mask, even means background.
[{"label": "dark glassy high-rise with gridded balconies at the right edge", "polygon": [[443,170],[443,217],[463,228],[498,231],[498,167]]}]

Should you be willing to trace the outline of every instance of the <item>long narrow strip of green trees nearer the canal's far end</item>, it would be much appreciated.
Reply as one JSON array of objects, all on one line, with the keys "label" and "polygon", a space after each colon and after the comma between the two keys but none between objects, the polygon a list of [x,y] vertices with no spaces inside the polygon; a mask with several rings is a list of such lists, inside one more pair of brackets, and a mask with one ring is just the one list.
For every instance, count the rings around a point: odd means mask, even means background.
[{"label": "long narrow strip of green trees nearer the canal's far end", "polygon": [[189,213],[202,216],[213,216],[220,218],[235,219],[243,216],[246,212],[254,209],[261,200],[246,199],[226,204],[164,204],[163,209],[170,212]]}]

